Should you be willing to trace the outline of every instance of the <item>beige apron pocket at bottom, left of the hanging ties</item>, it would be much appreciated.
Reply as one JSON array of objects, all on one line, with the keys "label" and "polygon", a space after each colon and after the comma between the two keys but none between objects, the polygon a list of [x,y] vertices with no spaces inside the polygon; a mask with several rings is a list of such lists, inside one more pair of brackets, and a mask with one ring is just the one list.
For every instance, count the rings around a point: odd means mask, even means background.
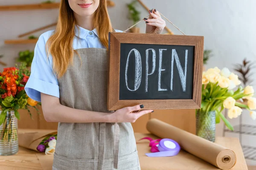
[{"label": "beige apron pocket at bottom, left of the hanging ties", "polygon": [[98,162],[94,159],[76,159],[54,153],[53,170],[94,170]]}]

